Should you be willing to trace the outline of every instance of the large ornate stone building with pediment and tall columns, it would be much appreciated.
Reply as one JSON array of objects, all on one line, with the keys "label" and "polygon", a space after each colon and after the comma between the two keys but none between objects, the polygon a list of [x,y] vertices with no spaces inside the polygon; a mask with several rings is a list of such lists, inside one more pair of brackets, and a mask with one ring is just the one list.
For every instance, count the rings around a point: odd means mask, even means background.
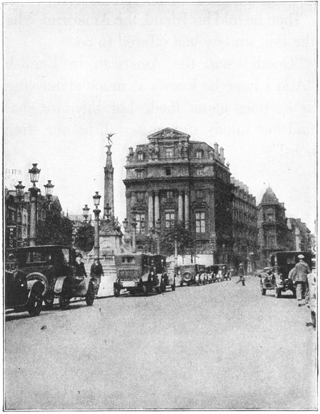
[{"label": "large ornate stone building with pediment and tall columns", "polygon": [[165,128],[148,143],[129,148],[126,163],[128,221],[137,219],[137,249],[148,248],[148,233],[162,233],[182,221],[197,240],[197,261],[232,254],[230,170],[223,148]]}]

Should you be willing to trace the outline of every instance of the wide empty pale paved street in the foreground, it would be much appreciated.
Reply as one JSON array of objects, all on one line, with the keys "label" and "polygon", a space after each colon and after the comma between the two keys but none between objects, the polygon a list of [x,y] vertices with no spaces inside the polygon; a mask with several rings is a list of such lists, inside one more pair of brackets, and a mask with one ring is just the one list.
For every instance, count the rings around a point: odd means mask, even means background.
[{"label": "wide empty pale paved street in the foreground", "polygon": [[7,315],[6,408],[316,408],[308,308],[235,282]]}]

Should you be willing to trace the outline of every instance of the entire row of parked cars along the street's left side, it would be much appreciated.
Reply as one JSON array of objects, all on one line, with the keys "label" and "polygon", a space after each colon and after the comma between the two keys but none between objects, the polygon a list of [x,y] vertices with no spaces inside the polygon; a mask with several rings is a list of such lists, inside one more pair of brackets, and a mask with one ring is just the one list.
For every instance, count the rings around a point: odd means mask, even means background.
[{"label": "entire row of parked cars along the street's left side", "polygon": [[[117,279],[114,296],[164,293],[180,286],[207,284],[230,280],[226,264],[201,264],[168,268],[166,257],[150,253],[116,255]],[[42,303],[51,309],[54,300],[67,309],[72,297],[84,297],[88,306],[94,302],[99,282],[94,277],[78,277],[76,252],[62,245],[29,246],[12,250],[6,260],[6,308],[39,315]],[[176,280],[177,279],[177,280]]]}]

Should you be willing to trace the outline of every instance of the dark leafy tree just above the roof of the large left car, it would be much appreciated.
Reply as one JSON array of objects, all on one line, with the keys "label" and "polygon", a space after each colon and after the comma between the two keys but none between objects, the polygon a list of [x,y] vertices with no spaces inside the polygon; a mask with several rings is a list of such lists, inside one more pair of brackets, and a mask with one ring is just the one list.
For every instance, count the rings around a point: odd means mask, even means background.
[{"label": "dark leafy tree just above the roof of the large left car", "polygon": [[37,244],[72,244],[72,221],[67,217],[57,217],[50,210],[46,220],[37,226]]}]

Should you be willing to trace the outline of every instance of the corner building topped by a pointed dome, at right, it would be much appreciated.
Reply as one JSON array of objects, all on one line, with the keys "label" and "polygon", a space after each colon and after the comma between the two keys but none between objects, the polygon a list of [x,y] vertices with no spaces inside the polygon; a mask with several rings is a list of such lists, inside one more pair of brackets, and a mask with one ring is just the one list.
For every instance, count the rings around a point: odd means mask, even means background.
[{"label": "corner building topped by a pointed dome, at right", "polygon": [[272,188],[268,187],[258,206],[258,244],[261,266],[268,265],[272,251],[292,250],[286,208],[279,203]]}]

